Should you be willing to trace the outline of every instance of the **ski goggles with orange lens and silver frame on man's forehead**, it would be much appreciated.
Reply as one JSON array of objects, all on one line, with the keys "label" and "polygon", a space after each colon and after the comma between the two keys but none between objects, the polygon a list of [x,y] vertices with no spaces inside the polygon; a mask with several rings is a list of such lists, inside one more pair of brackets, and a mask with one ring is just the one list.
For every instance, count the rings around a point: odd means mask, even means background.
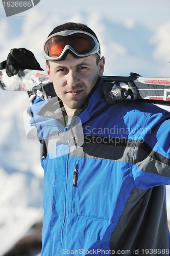
[{"label": "ski goggles with orange lens and silver frame on man's forehead", "polygon": [[100,44],[90,33],[82,30],[65,30],[49,36],[43,46],[46,60],[59,60],[70,51],[75,56],[87,57],[92,54],[100,54]]}]

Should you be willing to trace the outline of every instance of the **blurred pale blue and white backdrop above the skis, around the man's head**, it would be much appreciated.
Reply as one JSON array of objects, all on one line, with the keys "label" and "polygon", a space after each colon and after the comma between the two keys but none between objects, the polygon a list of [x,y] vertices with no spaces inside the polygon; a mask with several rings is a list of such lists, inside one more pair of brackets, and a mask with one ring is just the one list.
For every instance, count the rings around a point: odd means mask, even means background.
[{"label": "blurred pale blue and white backdrop above the skis, around the man's head", "polygon": [[44,69],[43,41],[57,25],[73,21],[87,24],[98,35],[105,75],[169,76],[169,10],[169,0],[41,0],[30,10],[6,17],[1,2],[0,61],[10,49],[25,47]]}]

